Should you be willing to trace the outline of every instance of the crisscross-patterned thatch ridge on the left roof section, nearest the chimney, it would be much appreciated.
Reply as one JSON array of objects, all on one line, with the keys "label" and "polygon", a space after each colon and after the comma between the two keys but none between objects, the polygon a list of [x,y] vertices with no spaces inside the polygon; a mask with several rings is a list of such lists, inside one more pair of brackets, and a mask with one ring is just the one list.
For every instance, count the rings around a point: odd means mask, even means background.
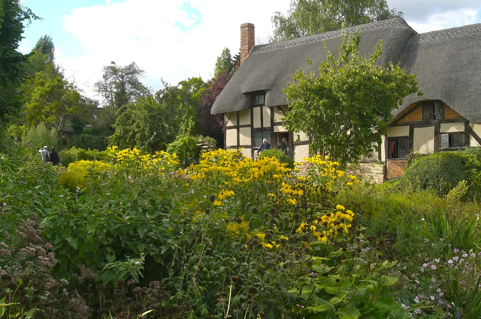
[{"label": "crisscross-patterned thatch ridge on the left roof section, nearest the chimney", "polygon": [[[387,26],[392,27],[392,26],[405,26],[405,25],[406,23],[403,19],[391,19],[386,21],[371,22],[366,25],[356,25],[353,27],[346,28],[345,30],[349,32],[355,31],[357,29],[359,29],[359,31],[367,31],[367,30],[374,30],[374,29],[379,29]],[[341,32],[342,30],[334,30],[334,31],[317,34],[317,35],[300,37],[300,38],[295,38],[291,40],[284,40],[280,42],[269,43],[266,45],[255,46],[251,54],[262,53],[262,52],[278,50],[278,49],[286,49],[286,48],[295,47],[303,44],[316,43],[319,41],[338,38],[338,37],[341,37]]]}]

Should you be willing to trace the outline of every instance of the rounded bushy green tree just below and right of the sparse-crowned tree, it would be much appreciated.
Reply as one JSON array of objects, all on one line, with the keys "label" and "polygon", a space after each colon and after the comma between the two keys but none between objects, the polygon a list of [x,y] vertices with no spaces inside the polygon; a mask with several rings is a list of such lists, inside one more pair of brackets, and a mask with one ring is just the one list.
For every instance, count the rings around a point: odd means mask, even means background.
[{"label": "rounded bushy green tree just below and right of the sparse-crowned tree", "polygon": [[152,152],[165,149],[175,140],[178,127],[169,106],[157,103],[149,95],[123,107],[114,124],[115,133],[108,137],[110,145],[119,148],[138,147]]}]

